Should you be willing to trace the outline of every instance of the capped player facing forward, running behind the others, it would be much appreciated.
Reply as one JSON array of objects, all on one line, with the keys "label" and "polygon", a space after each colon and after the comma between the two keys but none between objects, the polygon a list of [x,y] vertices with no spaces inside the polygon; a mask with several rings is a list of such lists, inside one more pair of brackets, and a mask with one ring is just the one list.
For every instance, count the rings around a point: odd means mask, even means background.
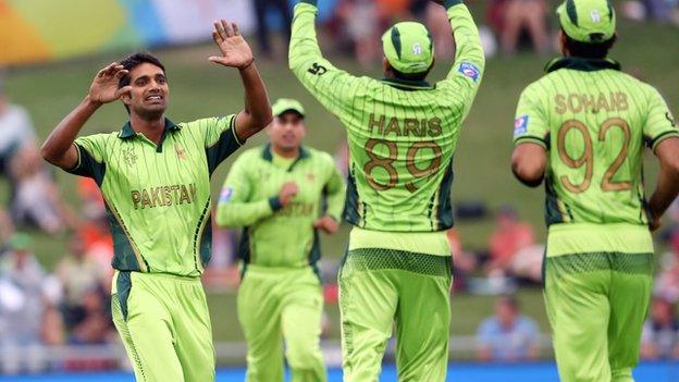
[{"label": "capped player facing forward, running behind the others", "polygon": [[238,157],[217,210],[219,225],[245,227],[238,319],[248,344],[246,381],[283,381],[285,341],[292,381],[324,382],[318,231],[337,231],[346,186],[330,155],[301,146],[298,101],[277,100],[273,114],[270,143]]}]

